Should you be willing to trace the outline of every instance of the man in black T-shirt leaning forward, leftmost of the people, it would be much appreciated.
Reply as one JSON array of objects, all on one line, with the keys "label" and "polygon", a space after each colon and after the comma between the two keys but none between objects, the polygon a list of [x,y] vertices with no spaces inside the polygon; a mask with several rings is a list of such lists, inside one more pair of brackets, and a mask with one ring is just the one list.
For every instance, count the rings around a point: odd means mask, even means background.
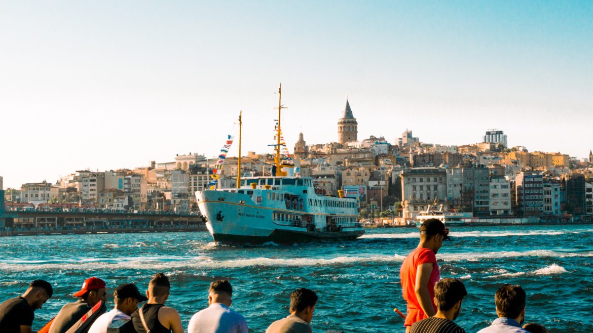
[{"label": "man in black T-shirt leaning forward, leftmost of the people", "polygon": [[21,296],[5,300],[0,304],[0,328],[2,333],[30,333],[34,311],[52,297],[53,288],[49,282],[34,280]]}]

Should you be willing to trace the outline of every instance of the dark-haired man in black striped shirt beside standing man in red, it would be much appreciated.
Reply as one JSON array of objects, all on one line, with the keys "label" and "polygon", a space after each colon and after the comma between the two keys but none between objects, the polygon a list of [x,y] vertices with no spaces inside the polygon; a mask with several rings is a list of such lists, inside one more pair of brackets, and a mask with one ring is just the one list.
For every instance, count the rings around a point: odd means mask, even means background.
[{"label": "dark-haired man in black striped shirt beside standing man in red", "polygon": [[455,278],[444,278],[435,284],[436,315],[412,324],[410,333],[466,333],[453,321],[461,311],[466,287]]}]

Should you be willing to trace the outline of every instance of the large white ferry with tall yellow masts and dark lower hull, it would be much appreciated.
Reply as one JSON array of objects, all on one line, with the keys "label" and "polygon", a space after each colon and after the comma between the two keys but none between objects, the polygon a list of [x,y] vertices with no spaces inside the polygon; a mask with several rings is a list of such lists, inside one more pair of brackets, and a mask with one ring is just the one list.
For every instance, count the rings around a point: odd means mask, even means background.
[{"label": "large white ferry with tall yellow masts and dark lower hull", "polygon": [[[198,207],[214,241],[231,244],[294,244],[323,239],[355,239],[364,234],[355,198],[326,196],[308,177],[295,177],[294,165],[280,155],[278,89],[276,155],[269,177],[241,178],[241,116],[239,161],[235,188],[197,191]],[[288,159],[288,161],[287,161]],[[216,178],[215,178],[216,179]]]}]

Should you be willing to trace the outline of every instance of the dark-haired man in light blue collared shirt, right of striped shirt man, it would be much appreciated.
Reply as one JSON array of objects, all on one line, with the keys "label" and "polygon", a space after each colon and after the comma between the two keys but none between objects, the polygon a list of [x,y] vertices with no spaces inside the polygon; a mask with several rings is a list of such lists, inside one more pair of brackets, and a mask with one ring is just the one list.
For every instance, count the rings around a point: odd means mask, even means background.
[{"label": "dark-haired man in light blue collared shirt, right of striped shirt man", "polygon": [[525,290],[518,284],[504,284],[494,296],[498,318],[478,333],[526,333],[521,328],[525,319]]}]

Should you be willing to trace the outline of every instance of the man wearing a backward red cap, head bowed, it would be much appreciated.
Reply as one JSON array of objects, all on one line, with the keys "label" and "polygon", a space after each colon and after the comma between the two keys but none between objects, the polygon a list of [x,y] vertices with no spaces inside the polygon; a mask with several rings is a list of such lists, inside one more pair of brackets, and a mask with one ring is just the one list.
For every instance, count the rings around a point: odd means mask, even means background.
[{"label": "man wearing a backward red cap, head bowed", "polygon": [[80,298],[76,302],[68,303],[62,307],[60,312],[58,312],[56,319],[53,320],[49,333],[65,333],[76,324],[88,310],[92,309],[95,304],[100,301],[106,302],[107,290],[105,281],[98,277],[87,278],[82,284],[82,289],[79,292],[76,292],[74,296]]}]

